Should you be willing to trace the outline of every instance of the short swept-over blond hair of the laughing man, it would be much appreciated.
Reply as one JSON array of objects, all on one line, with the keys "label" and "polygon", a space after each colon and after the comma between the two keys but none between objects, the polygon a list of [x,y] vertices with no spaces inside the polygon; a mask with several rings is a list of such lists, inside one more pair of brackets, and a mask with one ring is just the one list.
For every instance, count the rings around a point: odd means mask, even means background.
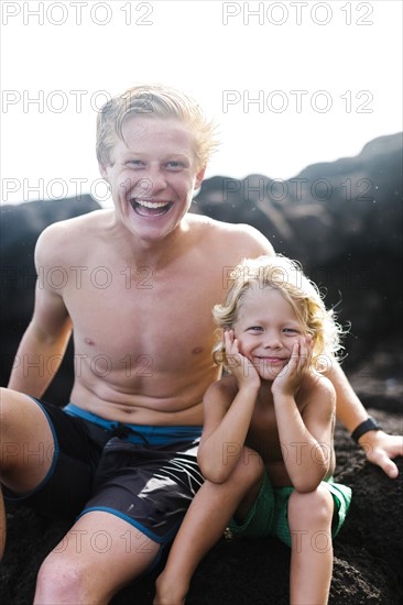
[{"label": "short swept-over blond hair of the laughing man", "polygon": [[204,167],[218,146],[215,125],[208,122],[200,107],[179,90],[162,85],[134,86],[110,99],[97,117],[97,158],[111,165],[111,151],[117,139],[123,141],[122,128],[128,117],[176,119],[186,124],[194,136],[197,169]]}]

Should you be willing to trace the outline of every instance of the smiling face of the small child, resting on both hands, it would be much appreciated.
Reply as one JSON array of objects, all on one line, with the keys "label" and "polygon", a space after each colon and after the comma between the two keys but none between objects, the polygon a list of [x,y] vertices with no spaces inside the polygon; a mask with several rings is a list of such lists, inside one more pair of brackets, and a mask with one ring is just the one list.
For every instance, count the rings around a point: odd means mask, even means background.
[{"label": "smiling face of the small child, resting on both hands", "polygon": [[303,338],[293,307],[271,287],[246,295],[233,330],[239,352],[266,381],[273,381],[288,363],[295,342]]}]

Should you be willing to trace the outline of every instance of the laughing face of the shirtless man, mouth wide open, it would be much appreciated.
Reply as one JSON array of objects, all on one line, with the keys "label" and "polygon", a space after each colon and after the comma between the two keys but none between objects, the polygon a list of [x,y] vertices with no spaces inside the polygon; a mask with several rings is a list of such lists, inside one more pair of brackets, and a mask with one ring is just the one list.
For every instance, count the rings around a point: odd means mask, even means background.
[{"label": "laughing face of the shirtless man, mouth wide open", "polygon": [[179,224],[203,180],[192,133],[178,120],[135,114],[122,134],[101,175],[124,226],[141,239],[161,240]]}]

